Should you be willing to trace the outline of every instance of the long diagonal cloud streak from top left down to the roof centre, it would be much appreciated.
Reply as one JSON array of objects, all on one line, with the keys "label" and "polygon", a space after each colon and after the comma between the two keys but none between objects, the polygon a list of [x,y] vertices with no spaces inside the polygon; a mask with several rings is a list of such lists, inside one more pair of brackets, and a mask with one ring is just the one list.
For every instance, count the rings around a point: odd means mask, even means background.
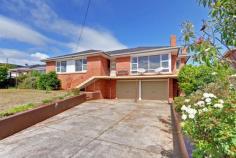
[{"label": "long diagonal cloud streak from top left down to the roof centre", "polygon": [[84,27],[81,41],[78,43],[81,26],[60,18],[45,1],[3,0],[3,2],[11,12],[27,15],[27,18],[24,20],[35,27],[63,36],[68,41],[67,47],[71,48],[71,51],[126,48],[110,31],[88,26]]}]

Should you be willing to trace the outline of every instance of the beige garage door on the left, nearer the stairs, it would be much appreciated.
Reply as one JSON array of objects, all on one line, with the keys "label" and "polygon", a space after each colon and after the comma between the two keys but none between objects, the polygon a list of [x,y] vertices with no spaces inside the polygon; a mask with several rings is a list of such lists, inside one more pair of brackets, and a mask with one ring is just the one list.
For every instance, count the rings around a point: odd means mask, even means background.
[{"label": "beige garage door on the left, nearer the stairs", "polygon": [[137,81],[117,81],[116,96],[118,99],[135,99],[137,88]]}]

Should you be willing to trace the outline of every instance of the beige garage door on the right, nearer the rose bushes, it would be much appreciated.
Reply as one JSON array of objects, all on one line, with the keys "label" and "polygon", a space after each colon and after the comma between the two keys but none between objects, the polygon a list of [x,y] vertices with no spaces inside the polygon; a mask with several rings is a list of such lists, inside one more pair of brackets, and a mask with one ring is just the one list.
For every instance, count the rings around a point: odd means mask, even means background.
[{"label": "beige garage door on the right, nearer the rose bushes", "polygon": [[142,81],[142,99],[146,100],[167,100],[167,81]]}]

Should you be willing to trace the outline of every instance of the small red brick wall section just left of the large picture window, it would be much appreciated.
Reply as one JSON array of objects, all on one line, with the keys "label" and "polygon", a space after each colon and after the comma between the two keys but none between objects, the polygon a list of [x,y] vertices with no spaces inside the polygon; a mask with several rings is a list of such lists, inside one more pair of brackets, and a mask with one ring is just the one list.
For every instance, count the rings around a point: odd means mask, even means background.
[{"label": "small red brick wall section just left of the large picture window", "polygon": [[130,72],[130,57],[120,57],[116,58],[116,72],[118,71],[128,71]]}]

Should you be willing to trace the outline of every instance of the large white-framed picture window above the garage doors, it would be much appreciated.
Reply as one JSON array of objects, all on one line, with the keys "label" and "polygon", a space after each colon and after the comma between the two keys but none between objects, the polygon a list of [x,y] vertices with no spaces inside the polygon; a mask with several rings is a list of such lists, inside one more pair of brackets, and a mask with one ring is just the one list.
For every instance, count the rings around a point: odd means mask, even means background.
[{"label": "large white-framed picture window above the garage doors", "polygon": [[137,73],[140,68],[145,69],[145,72],[155,72],[158,68],[161,68],[162,72],[169,72],[169,55],[161,54],[132,57],[131,72]]}]

